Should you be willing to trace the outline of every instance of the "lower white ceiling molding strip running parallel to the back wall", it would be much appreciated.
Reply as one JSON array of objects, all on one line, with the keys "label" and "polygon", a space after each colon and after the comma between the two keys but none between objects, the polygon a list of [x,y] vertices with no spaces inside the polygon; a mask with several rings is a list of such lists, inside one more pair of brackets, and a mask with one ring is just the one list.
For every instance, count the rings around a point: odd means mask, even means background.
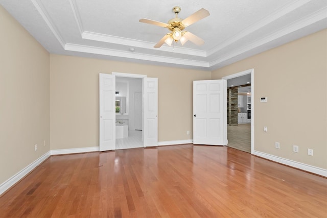
[{"label": "lower white ceiling molding strip running parallel to the back wall", "polygon": [[83,52],[83,53],[90,53],[90,54],[97,54],[97,55],[115,56],[115,57],[123,57],[123,58],[139,59],[139,60],[146,60],[146,61],[179,64],[179,65],[189,65],[189,66],[197,66],[197,67],[209,67],[209,63],[206,61],[171,58],[171,57],[157,56],[157,55],[147,55],[147,54],[141,54],[135,52],[104,49],[101,47],[80,45],[80,44],[66,43],[64,49],[67,51]]}]

